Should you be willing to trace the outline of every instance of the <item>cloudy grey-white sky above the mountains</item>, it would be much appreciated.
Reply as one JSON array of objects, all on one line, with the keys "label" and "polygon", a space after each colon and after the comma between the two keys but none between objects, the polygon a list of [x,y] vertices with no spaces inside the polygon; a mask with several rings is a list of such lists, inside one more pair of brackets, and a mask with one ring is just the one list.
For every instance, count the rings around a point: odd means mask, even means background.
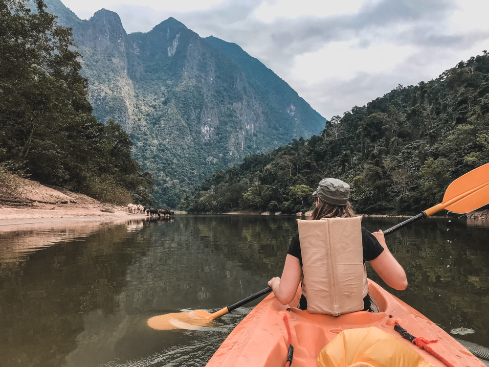
[{"label": "cloudy grey-white sky above the mountains", "polygon": [[62,0],[128,33],[174,17],[258,58],[326,118],[489,49],[487,0]]}]

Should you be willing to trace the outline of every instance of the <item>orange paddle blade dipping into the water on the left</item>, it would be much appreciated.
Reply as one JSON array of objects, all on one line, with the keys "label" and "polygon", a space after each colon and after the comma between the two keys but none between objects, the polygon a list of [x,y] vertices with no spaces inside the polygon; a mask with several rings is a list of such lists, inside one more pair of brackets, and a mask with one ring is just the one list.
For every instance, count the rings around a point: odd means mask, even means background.
[{"label": "orange paddle blade dipping into the water on the left", "polygon": [[216,327],[216,322],[209,320],[210,313],[196,310],[189,312],[177,312],[152,317],[148,320],[148,326],[156,330],[208,330]]}]

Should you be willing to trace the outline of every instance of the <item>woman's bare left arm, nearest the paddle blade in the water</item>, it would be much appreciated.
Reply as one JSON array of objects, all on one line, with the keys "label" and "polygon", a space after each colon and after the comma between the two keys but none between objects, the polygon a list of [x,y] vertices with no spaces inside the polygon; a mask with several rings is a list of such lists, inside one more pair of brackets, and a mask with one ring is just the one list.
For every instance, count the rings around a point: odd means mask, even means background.
[{"label": "woman's bare left arm, nearest the paddle blade in the water", "polygon": [[302,279],[302,267],[299,259],[291,254],[285,258],[282,279],[278,276],[272,278],[268,285],[272,287],[275,297],[283,305],[289,304],[297,294],[297,288]]}]

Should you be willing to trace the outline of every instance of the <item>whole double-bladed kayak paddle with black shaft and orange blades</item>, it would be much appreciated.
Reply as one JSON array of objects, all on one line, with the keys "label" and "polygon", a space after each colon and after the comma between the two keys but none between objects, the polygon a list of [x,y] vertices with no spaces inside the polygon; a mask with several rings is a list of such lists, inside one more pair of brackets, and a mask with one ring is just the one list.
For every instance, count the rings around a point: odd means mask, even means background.
[{"label": "whole double-bladed kayak paddle with black shaft and orange blades", "polygon": [[[411,223],[420,219],[427,218],[440,210],[448,210],[454,213],[468,213],[469,211],[480,208],[489,204],[489,163],[484,164],[465,175],[453,181],[445,191],[445,196],[441,204],[430,207],[420,214],[409,218],[408,220],[386,229],[383,233],[387,236]],[[222,308],[213,314],[195,310],[189,312],[177,312],[172,314],[152,317],[148,320],[148,326],[157,330],[187,329],[187,330],[205,330],[205,327],[212,327],[211,322],[238,307],[245,305],[252,300],[270,293],[270,287],[255,293],[247,298],[242,299],[232,305]]]}]

